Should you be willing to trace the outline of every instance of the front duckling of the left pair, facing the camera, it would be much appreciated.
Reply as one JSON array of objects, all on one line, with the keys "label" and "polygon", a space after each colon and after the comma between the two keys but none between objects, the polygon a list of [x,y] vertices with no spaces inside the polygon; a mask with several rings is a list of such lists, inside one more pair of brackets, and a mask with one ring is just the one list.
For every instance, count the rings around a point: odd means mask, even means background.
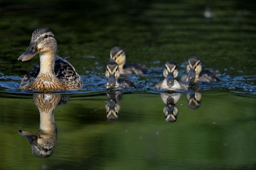
[{"label": "front duckling of the left pair, facing the camera", "polygon": [[106,89],[136,88],[131,80],[120,77],[118,64],[113,60],[108,63],[105,75],[108,78],[108,82],[105,85]]}]

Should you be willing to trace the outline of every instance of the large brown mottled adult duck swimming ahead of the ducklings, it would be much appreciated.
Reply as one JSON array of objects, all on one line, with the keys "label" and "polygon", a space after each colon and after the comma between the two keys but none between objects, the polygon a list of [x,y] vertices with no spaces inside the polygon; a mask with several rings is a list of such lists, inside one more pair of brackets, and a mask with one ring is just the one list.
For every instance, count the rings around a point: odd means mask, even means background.
[{"label": "large brown mottled adult duck swimming ahead of the ducklings", "polygon": [[74,67],[58,57],[57,52],[57,41],[51,30],[40,28],[33,32],[28,50],[18,60],[30,60],[39,53],[40,66],[34,67],[24,76],[20,83],[21,90],[59,91],[83,87]]}]

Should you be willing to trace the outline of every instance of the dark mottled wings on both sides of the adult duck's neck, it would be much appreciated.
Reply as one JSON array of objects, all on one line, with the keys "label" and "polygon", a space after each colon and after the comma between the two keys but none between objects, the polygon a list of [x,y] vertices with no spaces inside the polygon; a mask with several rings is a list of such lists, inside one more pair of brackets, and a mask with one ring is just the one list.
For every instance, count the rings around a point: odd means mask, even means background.
[{"label": "dark mottled wings on both sides of the adult duck's neck", "polygon": [[[35,66],[28,71],[20,83],[20,89],[29,89],[40,72],[40,66]],[[65,89],[80,89],[83,87],[80,76],[76,73],[74,67],[65,59],[56,57],[54,64],[54,73],[56,78],[63,83]]]}]

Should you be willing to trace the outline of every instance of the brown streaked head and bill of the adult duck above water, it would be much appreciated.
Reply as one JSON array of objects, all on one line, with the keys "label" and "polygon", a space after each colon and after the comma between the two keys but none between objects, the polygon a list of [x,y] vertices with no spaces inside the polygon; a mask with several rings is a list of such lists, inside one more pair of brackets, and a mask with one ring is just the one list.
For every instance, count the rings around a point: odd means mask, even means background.
[{"label": "brown streaked head and bill of the adult duck above water", "polygon": [[57,54],[57,41],[50,29],[40,28],[36,29],[31,37],[30,45],[26,52],[19,57],[19,61],[30,60],[37,53],[44,55],[45,53]]}]

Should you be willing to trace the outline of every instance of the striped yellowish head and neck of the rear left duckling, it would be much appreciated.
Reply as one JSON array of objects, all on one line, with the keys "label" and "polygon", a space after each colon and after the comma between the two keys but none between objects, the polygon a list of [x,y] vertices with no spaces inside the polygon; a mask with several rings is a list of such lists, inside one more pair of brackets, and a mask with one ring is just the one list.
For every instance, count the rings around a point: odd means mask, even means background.
[{"label": "striped yellowish head and neck of the rear left duckling", "polygon": [[123,69],[123,66],[125,64],[125,52],[124,49],[120,46],[114,46],[110,50],[110,59],[115,60],[115,62],[118,64],[119,69]]}]

